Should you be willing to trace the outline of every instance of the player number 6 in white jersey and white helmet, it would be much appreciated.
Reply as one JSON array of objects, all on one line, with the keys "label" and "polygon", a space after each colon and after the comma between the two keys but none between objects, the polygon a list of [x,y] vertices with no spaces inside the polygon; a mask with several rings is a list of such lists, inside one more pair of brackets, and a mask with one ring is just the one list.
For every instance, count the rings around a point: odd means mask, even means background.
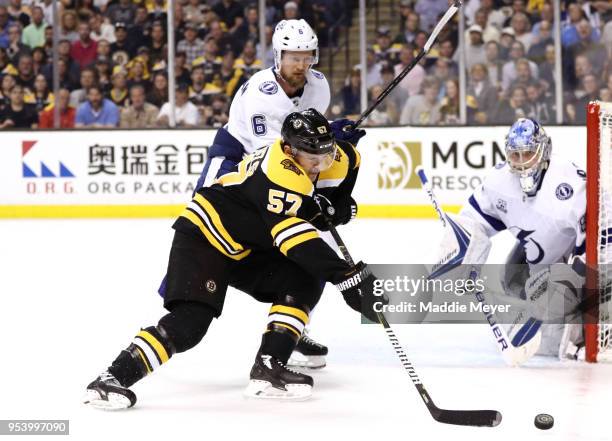
[{"label": "player number 6 in white jersey and white helmet", "polygon": [[[329,83],[313,65],[319,60],[318,39],[305,20],[282,20],[272,37],[274,67],[254,74],[234,96],[228,123],[220,128],[208,150],[208,160],[196,185],[210,186],[220,176],[235,171],[244,155],[272,144],[280,137],[285,118],[292,112],[315,108],[322,114],[330,102]],[[351,121],[331,123],[336,139],[357,145],[365,135],[352,129]],[[329,183],[317,182],[317,187]],[[357,205],[349,198],[335,206],[337,218],[346,223],[355,217]],[[159,293],[164,296],[165,279]],[[323,289],[322,282],[321,289]],[[325,366],[327,347],[304,332],[289,365],[309,368]]]}]

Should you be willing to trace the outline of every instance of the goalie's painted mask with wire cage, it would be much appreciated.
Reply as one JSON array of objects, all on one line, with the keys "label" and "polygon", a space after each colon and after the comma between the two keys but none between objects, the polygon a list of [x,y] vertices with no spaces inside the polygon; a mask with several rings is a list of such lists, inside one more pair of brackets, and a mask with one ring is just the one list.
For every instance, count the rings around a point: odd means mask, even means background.
[{"label": "goalie's painted mask with wire cage", "polygon": [[548,166],[552,143],[544,128],[531,118],[520,118],[506,136],[506,162],[519,176],[521,189],[535,196],[542,172]]}]

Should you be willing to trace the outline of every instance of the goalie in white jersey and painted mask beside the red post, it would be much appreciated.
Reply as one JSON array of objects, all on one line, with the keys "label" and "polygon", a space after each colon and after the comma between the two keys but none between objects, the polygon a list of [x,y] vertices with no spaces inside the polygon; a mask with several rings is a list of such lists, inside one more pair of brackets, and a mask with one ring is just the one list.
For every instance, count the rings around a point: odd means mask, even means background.
[{"label": "goalie in white jersey and painted mask beside the red post", "polygon": [[[574,356],[582,345],[581,327],[561,323],[579,317],[583,261],[553,264],[585,252],[586,174],[571,161],[551,156],[551,150],[551,138],[537,121],[517,120],[506,137],[506,161],[486,175],[460,214],[453,216],[478,238],[470,247],[478,248],[471,254],[480,261],[465,263],[484,263],[489,238],[501,231],[508,230],[517,240],[502,282],[505,294],[525,300],[527,312],[508,332],[514,347],[524,347],[513,364],[536,352],[565,358],[571,348]],[[553,304],[561,307],[552,311]],[[541,326],[543,321],[551,323],[553,312],[557,324]]]}]

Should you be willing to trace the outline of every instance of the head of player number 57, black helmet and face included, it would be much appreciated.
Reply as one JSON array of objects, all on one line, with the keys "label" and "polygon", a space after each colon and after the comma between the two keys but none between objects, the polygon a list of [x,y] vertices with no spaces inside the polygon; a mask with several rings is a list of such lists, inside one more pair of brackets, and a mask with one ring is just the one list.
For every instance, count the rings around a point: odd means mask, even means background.
[{"label": "head of player number 57, black helmet and face included", "polygon": [[295,158],[316,163],[319,172],[331,167],[336,157],[336,139],[329,122],[316,109],[290,113],[283,122],[281,138]]}]

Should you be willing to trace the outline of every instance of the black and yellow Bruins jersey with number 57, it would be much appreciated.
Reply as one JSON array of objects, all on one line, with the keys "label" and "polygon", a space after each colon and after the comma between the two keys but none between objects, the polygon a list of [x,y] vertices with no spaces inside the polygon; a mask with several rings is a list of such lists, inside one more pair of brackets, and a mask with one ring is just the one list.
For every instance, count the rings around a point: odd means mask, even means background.
[{"label": "black and yellow Bruins jersey with number 57", "polygon": [[276,247],[322,280],[341,279],[349,265],[307,221],[320,213],[315,190],[335,203],[350,197],[355,185],[359,153],[349,143],[337,145],[332,165],[314,183],[280,140],[254,151],[237,171],[198,189],[173,228],[203,235],[230,259]]}]

